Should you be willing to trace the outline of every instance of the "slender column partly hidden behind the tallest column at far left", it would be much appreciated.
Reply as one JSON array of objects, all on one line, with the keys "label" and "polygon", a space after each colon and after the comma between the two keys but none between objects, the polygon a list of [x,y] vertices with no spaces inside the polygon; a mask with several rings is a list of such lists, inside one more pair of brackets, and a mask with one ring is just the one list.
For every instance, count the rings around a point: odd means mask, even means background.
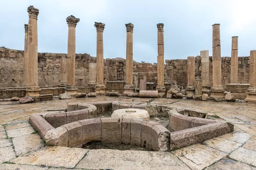
[{"label": "slender column partly hidden behind the tallest column at far left", "polygon": [[24,41],[24,70],[23,70],[23,86],[28,85],[29,82],[29,58],[28,58],[28,32],[29,32],[29,25],[24,24],[25,28],[25,41]]}]

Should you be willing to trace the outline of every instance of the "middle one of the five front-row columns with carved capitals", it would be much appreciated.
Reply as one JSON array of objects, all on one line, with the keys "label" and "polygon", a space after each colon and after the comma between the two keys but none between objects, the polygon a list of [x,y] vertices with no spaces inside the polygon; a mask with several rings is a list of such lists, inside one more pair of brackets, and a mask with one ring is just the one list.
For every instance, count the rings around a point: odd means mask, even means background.
[{"label": "middle one of the five front-row columns with carved capitals", "polygon": [[96,54],[96,63],[97,63],[97,80],[95,92],[97,94],[105,94],[106,85],[104,84],[104,58],[103,58],[103,31],[105,28],[104,23],[94,24],[97,30],[97,54]]}]

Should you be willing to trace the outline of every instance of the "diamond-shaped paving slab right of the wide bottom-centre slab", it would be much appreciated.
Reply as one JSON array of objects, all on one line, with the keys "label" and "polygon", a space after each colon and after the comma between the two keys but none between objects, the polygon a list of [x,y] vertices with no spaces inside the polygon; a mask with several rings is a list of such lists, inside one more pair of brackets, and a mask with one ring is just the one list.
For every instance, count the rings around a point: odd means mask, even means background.
[{"label": "diamond-shaped paving slab right of the wide bottom-centre slab", "polygon": [[193,144],[172,153],[193,170],[202,170],[227,155],[203,144]]}]

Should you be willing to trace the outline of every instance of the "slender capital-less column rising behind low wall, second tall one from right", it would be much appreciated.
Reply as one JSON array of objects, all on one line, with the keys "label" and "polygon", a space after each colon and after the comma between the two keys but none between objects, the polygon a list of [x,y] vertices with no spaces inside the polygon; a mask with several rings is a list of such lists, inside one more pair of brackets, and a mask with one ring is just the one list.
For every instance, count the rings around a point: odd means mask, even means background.
[{"label": "slender capital-less column rising behind low wall, second tall one from right", "polygon": [[238,83],[238,37],[232,37],[230,84]]}]

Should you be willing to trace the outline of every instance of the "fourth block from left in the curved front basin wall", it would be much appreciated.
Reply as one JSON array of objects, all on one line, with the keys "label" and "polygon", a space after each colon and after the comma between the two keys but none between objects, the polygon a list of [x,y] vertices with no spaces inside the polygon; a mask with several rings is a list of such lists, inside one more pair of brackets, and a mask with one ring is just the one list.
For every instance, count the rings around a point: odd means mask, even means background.
[{"label": "fourth block from left in the curved front basin wall", "polygon": [[122,143],[122,118],[101,118],[102,143]]}]

